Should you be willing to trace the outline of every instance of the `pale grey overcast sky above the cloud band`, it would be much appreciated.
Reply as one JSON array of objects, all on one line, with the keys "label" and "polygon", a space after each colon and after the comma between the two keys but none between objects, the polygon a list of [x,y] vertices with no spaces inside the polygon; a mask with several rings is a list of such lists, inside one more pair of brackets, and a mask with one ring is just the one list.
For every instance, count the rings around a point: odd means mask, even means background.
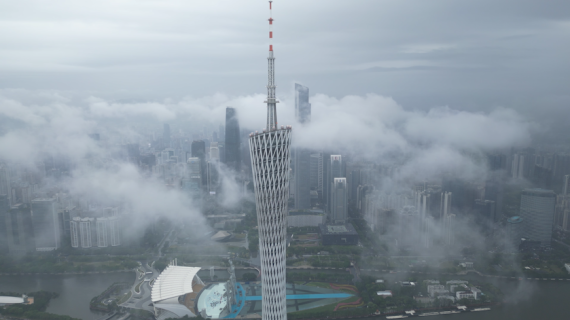
[{"label": "pale grey overcast sky above the cloud band", "polygon": [[[0,7],[3,89],[117,101],[265,92],[267,1]],[[277,0],[273,17],[278,96],[298,81],[412,110],[507,107],[558,126],[570,117],[569,1]]]}]

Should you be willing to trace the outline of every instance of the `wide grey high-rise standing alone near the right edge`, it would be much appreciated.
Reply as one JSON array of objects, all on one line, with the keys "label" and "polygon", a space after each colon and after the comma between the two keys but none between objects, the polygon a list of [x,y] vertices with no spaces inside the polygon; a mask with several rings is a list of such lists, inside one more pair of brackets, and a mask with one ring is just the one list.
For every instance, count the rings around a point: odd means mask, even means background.
[{"label": "wide grey high-rise standing alone near the right edge", "polygon": [[554,222],[556,194],[545,189],[525,189],[521,196],[520,217],[523,219],[523,236],[550,246]]}]

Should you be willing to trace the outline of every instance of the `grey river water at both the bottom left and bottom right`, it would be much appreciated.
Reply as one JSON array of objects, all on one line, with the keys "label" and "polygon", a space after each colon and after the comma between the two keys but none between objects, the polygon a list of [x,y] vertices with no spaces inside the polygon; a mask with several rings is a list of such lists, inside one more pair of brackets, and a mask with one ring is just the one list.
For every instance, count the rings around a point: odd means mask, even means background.
[{"label": "grey river water at both the bottom left and bottom right", "polygon": [[[223,278],[223,272],[216,272]],[[133,282],[133,273],[97,275],[0,276],[0,291],[54,291],[60,294],[50,302],[48,312],[84,320],[101,317],[89,310],[89,301],[113,282]],[[202,275],[204,280],[209,276]],[[470,277],[478,277],[471,275]],[[429,320],[537,320],[570,319],[570,281],[514,281],[493,279],[507,296],[507,303],[491,311],[426,317]],[[384,317],[370,318],[383,319]]]}]

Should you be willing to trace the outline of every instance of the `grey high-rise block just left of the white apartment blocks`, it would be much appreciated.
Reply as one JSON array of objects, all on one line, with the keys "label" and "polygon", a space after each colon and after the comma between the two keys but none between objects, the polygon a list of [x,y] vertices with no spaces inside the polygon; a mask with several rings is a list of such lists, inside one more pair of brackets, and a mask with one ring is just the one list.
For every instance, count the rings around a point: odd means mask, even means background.
[{"label": "grey high-rise block just left of the white apartment blocks", "polygon": [[60,247],[61,230],[53,198],[32,201],[32,225],[37,251],[51,251]]}]

